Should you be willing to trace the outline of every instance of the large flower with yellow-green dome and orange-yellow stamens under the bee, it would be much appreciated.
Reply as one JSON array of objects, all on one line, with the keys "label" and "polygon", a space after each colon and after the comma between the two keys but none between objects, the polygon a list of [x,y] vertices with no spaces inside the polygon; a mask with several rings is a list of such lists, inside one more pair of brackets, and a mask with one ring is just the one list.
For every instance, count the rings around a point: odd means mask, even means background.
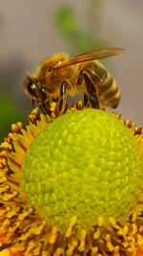
[{"label": "large flower with yellow-green dome and orange-yellow stamens under the bee", "polygon": [[0,256],[140,255],[143,129],[76,108],[33,109],[1,144]]}]

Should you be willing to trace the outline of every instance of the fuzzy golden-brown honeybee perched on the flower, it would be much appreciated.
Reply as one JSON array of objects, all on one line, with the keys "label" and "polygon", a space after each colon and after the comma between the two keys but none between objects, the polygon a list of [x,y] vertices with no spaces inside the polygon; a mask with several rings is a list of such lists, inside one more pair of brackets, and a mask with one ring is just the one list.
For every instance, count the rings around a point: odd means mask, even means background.
[{"label": "fuzzy golden-brown honeybee perched on the flower", "polygon": [[24,81],[24,91],[32,105],[38,105],[45,114],[50,113],[51,103],[62,113],[68,107],[67,96],[83,93],[85,106],[115,108],[120,101],[116,81],[98,60],[119,55],[122,48],[93,50],[74,58],[56,54],[42,61],[33,74]]}]

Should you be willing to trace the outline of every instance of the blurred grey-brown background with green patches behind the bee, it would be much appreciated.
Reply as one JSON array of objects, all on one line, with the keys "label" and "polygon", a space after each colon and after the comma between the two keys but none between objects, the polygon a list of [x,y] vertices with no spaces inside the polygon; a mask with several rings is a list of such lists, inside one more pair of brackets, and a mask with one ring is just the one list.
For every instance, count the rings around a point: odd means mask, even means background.
[{"label": "blurred grey-brown background with green patches behind the bee", "polygon": [[31,110],[26,71],[58,52],[102,47],[125,48],[104,64],[120,88],[117,111],[143,125],[142,12],[141,0],[0,0],[0,141]]}]

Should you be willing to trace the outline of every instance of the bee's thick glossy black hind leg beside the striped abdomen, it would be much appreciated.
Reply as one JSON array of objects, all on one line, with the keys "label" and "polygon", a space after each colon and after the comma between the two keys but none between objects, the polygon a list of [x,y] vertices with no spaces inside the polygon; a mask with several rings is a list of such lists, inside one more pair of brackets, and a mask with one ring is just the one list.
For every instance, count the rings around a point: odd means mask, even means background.
[{"label": "bee's thick glossy black hind leg beside the striped abdomen", "polygon": [[[83,70],[82,74],[83,74],[83,77],[84,77],[84,80],[85,80],[85,84],[86,84],[87,92],[89,94],[89,100],[90,100],[90,103],[92,105],[92,108],[99,108],[99,102],[98,102],[98,99],[96,97],[96,90],[95,90],[95,87],[94,87],[92,81],[90,80],[90,78],[87,74],[87,71]],[[88,98],[88,96],[84,95],[85,105],[88,105],[87,98]]]}]

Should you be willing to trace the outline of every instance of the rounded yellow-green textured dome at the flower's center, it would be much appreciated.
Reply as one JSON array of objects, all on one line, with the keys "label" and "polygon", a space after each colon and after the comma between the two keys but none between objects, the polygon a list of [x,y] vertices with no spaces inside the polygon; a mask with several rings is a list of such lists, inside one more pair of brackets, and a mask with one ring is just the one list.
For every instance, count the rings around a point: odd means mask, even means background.
[{"label": "rounded yellow-green textured dome at the flower's center", "polygon": [[43,129],[26,153],[23,185],[45,218],[80,225],[128,216],[142,184],[133,131],[102,110],[68,112]]}]

